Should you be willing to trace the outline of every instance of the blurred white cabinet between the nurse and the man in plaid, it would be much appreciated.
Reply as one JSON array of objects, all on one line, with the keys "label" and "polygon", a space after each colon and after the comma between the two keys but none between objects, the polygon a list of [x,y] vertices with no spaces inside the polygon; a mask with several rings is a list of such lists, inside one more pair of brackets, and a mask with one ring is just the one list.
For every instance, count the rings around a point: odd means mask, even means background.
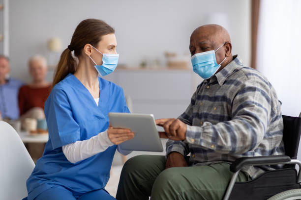
[{"label": "blurred white cabinet between the nurse and the man in plaid", "polygon": [[156,119],[181,115],[201,82],[189,70],[116,70],[105,78],[131,97],[133,113],[151,113]]}]

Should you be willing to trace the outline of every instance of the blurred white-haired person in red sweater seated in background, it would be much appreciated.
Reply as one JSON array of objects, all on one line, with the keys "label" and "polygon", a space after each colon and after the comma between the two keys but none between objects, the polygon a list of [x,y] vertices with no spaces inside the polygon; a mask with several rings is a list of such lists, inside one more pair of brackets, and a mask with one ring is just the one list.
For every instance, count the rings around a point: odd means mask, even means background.
[{"label": "blurred white-haired person in red sweater seated in background", "polygon": [[[45,80],[47,61],[41,55],[29,59],[29,72],[32,77],[30,84],[24,85],[19,91],[20,120],[24,128],[26,118],[45,119],[44,103],[51,91],[51,84]],[[27,149],[34,161],[43,155],[44,144],[28,143]]]}]

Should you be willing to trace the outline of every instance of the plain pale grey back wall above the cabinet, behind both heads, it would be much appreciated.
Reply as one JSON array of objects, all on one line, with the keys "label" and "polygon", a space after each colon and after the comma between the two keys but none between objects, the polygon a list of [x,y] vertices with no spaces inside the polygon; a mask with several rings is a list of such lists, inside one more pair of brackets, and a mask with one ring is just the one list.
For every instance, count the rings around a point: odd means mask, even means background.
[{"label": "plain pale grey back wall above the cabinet, behind both heads", "polygon": [[233,53],[250,62],[250,0],[10,0],[11,75],[28,81],[27,60],[47,56],[46,41],[59,37],[64,48],[84,19],[98,18],[116,29],[120,63],[137,66],[164,51],[189,53],[189,37],[212,13],[230,20]]}]

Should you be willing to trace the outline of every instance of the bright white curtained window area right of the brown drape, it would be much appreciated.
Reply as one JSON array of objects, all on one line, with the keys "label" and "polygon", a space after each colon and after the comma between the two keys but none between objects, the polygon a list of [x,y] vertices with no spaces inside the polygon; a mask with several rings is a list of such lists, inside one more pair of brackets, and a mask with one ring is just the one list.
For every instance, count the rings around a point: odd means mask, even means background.
[{"label": "bright white curtained window area right of the brown drape", "polygon": [[301,112],[301,1],[264,0],[260,3],[257,67],[282,101],[282,114]]}]

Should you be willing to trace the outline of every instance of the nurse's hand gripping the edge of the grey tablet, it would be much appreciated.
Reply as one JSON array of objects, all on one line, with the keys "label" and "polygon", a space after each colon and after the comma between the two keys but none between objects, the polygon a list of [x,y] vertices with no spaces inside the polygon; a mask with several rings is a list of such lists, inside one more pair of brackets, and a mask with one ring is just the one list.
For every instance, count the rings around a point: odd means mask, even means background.
[{"label": "nurse's hand gripping the edge of the grey tablet", "polygon": [[135,135],[130,129],[113,128],[110,126],[108,128],[108,137],[112,143],[119,145],[122,142],[133,139]]}]

